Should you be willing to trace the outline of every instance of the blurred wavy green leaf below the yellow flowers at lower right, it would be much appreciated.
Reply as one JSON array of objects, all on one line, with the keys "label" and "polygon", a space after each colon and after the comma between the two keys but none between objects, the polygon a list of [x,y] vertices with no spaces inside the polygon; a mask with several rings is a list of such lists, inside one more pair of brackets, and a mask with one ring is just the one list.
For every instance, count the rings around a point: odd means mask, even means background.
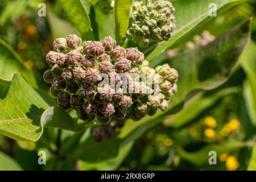
[{"label": "blurred wavy green leaf below the yellow flowers at lower right", "polygon": [[188,162],[191,162],[197,166],[202,166],[204,164],[208,164],[210,158],[209,151],[215,151],[217,155],[220,155],[223,153],[229,153],[242,147],[245,147],[243,142],[229,141],[222,142],[220,144],[207,144],[205,147],[195,152],[187,152],[183,150],[183,148],[177,148],[176,151],[177,154],[179,154],[184,160],[187,160]]}]

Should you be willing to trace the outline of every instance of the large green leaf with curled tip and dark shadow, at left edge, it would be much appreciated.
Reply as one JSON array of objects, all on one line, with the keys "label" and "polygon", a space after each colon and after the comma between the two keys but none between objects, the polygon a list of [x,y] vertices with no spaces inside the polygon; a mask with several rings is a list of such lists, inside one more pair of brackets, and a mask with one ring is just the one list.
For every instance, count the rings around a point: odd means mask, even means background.
[{"label": "large green leaf with curled tip and dark shadow, at left edge", "polygon": [[80,133],[86,126],[60,107],[50,107],[24,78],[15,73],[11,81],[0,78],[0,134],[16,140],[35,142],[44,127]]}]

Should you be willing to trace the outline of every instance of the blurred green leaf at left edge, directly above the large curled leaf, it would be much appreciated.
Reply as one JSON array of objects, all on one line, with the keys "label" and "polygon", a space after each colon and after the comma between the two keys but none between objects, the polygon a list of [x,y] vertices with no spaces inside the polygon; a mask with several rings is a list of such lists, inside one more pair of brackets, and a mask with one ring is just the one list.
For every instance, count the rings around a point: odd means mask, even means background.
[{"label": "blurred green leaf at left edge, directly above the large curled leaf", "polygon": [[24,61],[18,53],[0,39],[0,77],[10,80],[15,72],[21,73],[32,86],[38,86],[34,73],[24,66]]}]

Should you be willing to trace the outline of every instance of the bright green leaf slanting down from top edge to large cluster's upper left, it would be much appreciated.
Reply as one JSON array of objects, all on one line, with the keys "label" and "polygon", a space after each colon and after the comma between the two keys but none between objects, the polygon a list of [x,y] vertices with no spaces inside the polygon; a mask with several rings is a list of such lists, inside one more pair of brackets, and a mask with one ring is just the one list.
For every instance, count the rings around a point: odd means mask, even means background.
[{"label": "bright green leaf slanting down from top edge to large cluster's upper left", "polygon": [[81,0],[59,0],[69,19],[86,40],[94,40],[88,12]]}]

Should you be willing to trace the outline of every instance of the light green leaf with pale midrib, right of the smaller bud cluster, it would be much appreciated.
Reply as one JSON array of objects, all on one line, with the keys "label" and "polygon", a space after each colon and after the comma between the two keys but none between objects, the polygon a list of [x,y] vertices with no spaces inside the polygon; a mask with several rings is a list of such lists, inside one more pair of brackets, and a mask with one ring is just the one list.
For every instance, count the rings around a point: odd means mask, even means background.
[{"label": "light green leaf with pale midrib, right of the smaller bud cluster", "polygon": [[[149,61],[157,61],[157,57],[160,53],[164,52],[167,48],[170,48],[183,36],[185,36],[193,28],[197,27],[205,19],[209,19],[209,4],[215,3],[217,10],[220,10],[226,5],[237,5],[245,0],[179,0],[174,1],[173,5],[176,9],[176,30],[172,34],[172,37],[168,41],[159,43],[154,51],[152,51],[146,59]],[[219,12],[217,11],[217,14]]]}]

